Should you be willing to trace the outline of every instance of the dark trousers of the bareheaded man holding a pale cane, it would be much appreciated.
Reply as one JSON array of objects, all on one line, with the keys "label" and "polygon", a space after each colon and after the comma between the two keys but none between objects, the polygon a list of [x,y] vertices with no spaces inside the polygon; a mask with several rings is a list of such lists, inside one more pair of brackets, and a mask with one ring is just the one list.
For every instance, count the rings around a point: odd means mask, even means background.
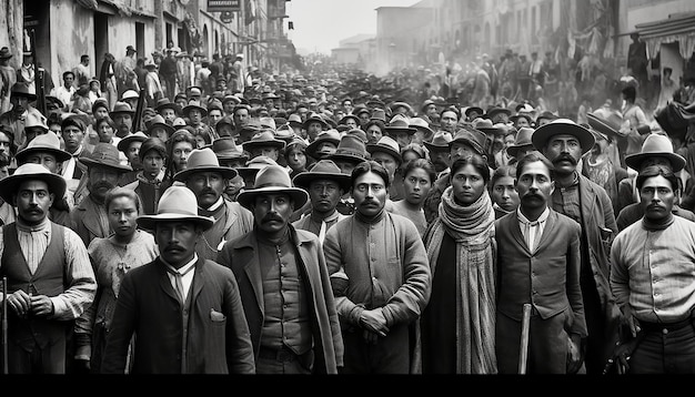
[{"label": "dark trousers of the bareheaded man holding a pale cane", "polygon": [[[571,313],[571,312],[570,312]],[[570,335],[565,330],[568,311],[543,319],[532,315],[528,323],[526,374],[566,374]],[[497,313],[495,350],[500,374],[518,374],[522,323]]]}]

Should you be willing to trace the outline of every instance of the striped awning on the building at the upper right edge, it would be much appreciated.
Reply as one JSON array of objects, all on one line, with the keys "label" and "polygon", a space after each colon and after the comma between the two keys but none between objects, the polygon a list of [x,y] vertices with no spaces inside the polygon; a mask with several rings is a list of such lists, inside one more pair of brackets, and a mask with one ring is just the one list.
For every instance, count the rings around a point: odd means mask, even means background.
[{"label": "striped awning on the building at the upper right edge", "polygon": [[639,38],[647,44],[647,53],[655,57],[662,43],[678,42],[683,59],[689,59],[695,49],[695,12],[675,13],[661,21],[635,26]]}]

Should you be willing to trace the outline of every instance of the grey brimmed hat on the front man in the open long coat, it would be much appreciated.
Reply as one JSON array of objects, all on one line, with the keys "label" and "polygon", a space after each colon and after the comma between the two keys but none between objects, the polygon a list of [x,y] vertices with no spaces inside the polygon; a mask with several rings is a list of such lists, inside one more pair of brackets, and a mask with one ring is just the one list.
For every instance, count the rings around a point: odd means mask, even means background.
[{"label": "grey brimmed hat on the front man in the open long coat", "polygon": [[253,189],[239,193],[236,201],[245,208],[250,208],[253,200],[260,194],[280,194],[284,193],[292,197],[294,208],[301,208],[306,201],[309,194],[300,187],[292,186],[292,180],[285,169],[275,164],[263,167],[255,175]]}]

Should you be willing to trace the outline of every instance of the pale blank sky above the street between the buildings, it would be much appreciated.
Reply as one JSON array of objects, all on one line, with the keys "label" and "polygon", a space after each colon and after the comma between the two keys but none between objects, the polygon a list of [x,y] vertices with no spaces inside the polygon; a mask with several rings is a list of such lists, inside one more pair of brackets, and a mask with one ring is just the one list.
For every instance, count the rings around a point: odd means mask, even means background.
[{"label": "pale blank sky above the street between the buildings", "polygon": [[[285,2],[288,30],[299,53],[331,53],[343,39],[357,34],[376,34],[379,7],[410,7],[420,0],[292,0]],[[286,26],[285,26],[286,29]]]}]

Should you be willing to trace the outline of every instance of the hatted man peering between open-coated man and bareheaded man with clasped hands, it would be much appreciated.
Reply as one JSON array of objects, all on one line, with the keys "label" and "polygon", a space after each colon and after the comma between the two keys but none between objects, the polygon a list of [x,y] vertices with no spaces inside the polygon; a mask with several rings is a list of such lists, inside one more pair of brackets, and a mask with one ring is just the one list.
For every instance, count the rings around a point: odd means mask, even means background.
[{"label": "hatted man peering between open-coated man and bareheaded man with clasped hands", "polygon": [[350,192],[350,174],[342,172],[331,160],[321,160],[310,171],[294,176],[292,182],[309,193],[311,202],[309,213],[292,225],[312,232],[323,244],[325,232],[348,217],[338,212],[335,206],[343,194]]}]

